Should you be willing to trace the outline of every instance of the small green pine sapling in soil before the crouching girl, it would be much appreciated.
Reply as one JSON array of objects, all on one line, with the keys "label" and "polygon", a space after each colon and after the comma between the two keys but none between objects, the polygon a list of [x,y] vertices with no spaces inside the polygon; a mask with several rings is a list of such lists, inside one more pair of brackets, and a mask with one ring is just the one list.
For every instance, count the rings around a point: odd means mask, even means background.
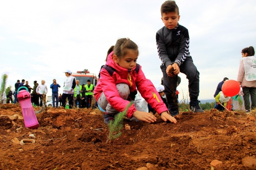
[{"label": "small green pine sapling in soil before the crouching girl", "polygon": [[106,143],[111,142],[112,140],[115,140],[119,138],[122,134],[121,129],[123,127],[123,120],[124,117],[127,114],[128,108],[131,106],[132,102],[130,102],[124,111],[119,112],[116,114],[114,120],[110,120],[108,127],[109,127],[109,134],[108,134],[108,140]]}]

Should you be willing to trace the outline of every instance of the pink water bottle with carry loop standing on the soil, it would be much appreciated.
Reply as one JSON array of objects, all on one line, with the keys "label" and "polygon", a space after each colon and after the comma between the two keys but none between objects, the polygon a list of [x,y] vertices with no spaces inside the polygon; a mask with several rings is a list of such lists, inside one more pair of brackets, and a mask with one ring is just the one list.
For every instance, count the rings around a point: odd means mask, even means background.
[{"label": "pink water bottle with carry loop standing on the soil", "polygon": [[20,87],[17,90],[17,98],[18,98],[18,101],[20,102],[25,127],[29,129],[36,129],[39,127],[39,123],[37,121],[35,111],[31,104],[30,93],[28,92],[28,89],[20,90],[21,88],[25,88],[25,89],[27,88]]}]

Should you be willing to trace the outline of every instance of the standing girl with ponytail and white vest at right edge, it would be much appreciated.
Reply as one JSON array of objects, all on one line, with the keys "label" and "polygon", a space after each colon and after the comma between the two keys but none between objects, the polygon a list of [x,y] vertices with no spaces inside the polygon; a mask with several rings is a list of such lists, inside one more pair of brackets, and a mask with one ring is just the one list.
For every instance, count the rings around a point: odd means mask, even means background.
[{"label": "standing girl with ponytail and white vest at right edge", "polygon": [[242,59],[240,60],[237,76],[237,81],[243,89],[246,112],[256,108],[256,57],[254,54],[255,51],[252,46],[242,50]]}]

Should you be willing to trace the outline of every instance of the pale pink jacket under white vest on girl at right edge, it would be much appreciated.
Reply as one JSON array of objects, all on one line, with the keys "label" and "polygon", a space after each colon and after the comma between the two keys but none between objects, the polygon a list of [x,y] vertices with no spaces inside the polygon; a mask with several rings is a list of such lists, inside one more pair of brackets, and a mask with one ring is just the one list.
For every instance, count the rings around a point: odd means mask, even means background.
[{"label": "pale pink jacket under white vest on girl at right edge", "polygon": [[237,81],[241,82],[241,87],[256,87],[256,80],[247,81],[245,79],[245,67],[243,59],[240,60]]}]

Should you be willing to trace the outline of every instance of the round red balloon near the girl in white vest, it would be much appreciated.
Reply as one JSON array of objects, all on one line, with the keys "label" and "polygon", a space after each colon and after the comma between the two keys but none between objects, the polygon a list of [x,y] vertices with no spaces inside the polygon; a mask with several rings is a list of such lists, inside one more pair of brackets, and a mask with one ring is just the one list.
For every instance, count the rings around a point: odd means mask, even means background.
[{"label": "round red balloon near the girl in white vest", "polygon": [[240,85],[236,80],[226,80],[221,88],[224,95],[228,97],[236,96],[240,91]]}]

